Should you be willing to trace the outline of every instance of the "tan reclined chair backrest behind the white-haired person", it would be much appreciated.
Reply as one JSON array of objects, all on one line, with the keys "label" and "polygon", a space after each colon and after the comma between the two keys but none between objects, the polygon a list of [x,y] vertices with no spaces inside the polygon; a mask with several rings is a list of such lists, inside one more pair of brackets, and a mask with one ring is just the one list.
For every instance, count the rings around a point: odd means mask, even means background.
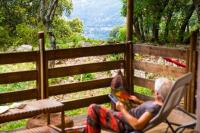
[{"label": "tan reclined chair backrest behind the white-haired person", "polygon": [[144,131],[153,128],[166,120],[170,112],[180,103],[181,99],[185,95],[188,88],[187,85],[191,81],[191,79],[192,74],[187,73],[174,82],[159,113],[149,122]]}]

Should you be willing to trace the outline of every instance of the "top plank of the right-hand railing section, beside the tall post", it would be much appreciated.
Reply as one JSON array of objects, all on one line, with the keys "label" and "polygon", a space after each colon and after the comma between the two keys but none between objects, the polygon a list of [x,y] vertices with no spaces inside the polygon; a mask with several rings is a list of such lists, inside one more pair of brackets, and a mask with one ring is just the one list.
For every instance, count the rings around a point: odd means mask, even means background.
[{"label": "top plank of the right-hand railing section, beside the tall post", "polygon": [[177,48],[166,48],[166,47],[158,47],[152,45],[144,45],[144,44],[135,44],[134,45],[134,53],[154,55],[154,56],[162,56],[162,57],[174,57],[180,59],[186,59],[187,54],[184,49]]}]

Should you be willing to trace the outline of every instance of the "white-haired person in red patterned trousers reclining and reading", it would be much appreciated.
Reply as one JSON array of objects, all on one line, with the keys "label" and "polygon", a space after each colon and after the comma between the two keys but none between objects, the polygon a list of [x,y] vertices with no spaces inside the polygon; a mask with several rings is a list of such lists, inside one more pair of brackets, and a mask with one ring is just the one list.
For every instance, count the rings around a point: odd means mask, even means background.
[{"label": "white-haired person in red patterned trousers reclining and reading", "polygon": [[127,110],[121,102],[116,103],[118,112],[96,104],[90,105],[85,131],[87,133],[100,133],[101,128],[104,128],[118,133],[128,133],[144,129],[159,112],[172,85],[172,81],[166,78],[156,79],[154,100],[143,102],[136,96],[131,95],[130,100],[140,105],[130,110]]}]

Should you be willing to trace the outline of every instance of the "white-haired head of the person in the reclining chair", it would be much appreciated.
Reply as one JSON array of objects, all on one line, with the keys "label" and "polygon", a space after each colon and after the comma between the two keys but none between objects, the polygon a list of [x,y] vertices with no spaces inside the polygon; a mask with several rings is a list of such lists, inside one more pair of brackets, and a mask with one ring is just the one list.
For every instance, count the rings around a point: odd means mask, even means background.
[{"label": "white-haired head of the person in the reclining chair", "polygon": [[161,99],[163,102],[166,99],[173,82],[167,78],[158,78],[155,80],[155,94],[157,98]]}]

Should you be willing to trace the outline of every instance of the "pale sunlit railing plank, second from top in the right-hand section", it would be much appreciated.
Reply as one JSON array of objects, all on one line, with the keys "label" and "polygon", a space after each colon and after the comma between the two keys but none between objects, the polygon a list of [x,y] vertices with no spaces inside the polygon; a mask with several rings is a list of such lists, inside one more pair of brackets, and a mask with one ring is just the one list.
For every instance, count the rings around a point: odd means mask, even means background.
[{"label": "pale sunlit railing plank, second from top in the right-hand section", "polygon": [[163,76],[179,77],[187,72],[186,69],[180,67],[172,67],[166,65],[152,64],[141,61],[134,61],[135,69],[150,73],[157,73]]}]

